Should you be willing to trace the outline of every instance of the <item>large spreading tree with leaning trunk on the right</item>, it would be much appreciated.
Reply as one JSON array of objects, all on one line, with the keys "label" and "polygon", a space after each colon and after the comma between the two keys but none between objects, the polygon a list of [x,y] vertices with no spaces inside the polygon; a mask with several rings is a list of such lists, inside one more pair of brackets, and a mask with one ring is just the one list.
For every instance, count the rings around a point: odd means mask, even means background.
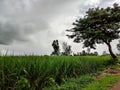
[{"label": "large spreading tree with leaning trunk on the right", "polygon": [[113,4],[113,7],[90,8],[84,18],[73,23],[74,27],[67,30],[72,32],[67,35],[73,38],[74,42],[83,42],[84,47],[95,49],[96,44],[105,43],[108,46],[110,55],[117,63],[118,58],[113,53],[111,42],[118,39],[120,33],[120,6]]}]

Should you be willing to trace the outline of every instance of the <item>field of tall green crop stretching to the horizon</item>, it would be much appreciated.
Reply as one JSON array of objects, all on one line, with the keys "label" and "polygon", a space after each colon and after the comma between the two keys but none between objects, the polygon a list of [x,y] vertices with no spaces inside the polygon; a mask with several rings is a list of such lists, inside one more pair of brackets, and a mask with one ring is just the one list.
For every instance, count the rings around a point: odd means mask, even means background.
[{"label": "field of tall green crop stretching to the horizon", "polygon": [[1,56],[0,90],[70,90],[73,82],[82,88],[113,64],[109,56]]}]

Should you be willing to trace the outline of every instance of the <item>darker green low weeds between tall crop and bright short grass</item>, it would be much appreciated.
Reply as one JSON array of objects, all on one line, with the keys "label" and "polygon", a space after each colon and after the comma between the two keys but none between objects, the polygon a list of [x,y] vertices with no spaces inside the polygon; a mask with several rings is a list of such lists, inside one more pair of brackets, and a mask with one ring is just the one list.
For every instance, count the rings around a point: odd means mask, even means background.
[{"label": "darker green low weeds between tall crop and bright short grass", "polygon": [[43,90],[81,90],[92,81],[94,81],[92,76],[83,75],[78,78],[67,79],[66,82],[60,86],[46,87]]}]

